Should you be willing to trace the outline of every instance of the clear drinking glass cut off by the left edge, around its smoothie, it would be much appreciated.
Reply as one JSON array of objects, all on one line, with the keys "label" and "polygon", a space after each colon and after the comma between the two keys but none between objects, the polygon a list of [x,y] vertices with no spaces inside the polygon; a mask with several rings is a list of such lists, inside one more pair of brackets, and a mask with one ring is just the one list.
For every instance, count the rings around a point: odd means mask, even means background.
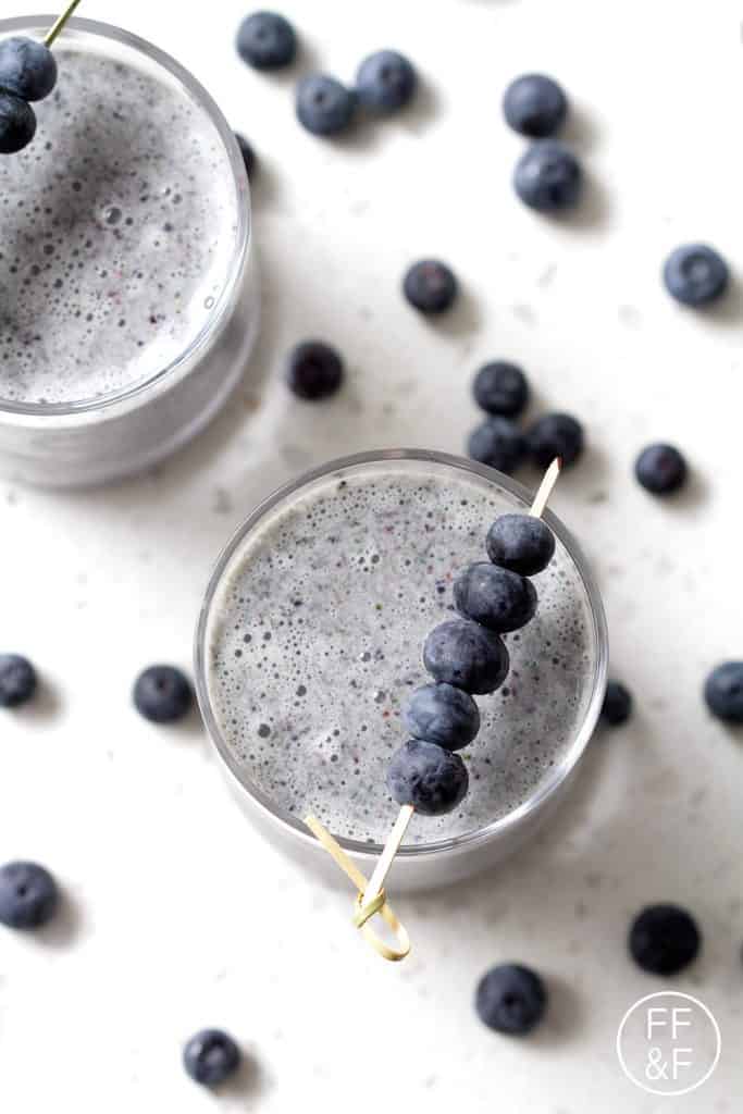
[{"label": "clear drinking glass cut off by the left edge, around its smoothie", "polygon": [[[42,38],[53,19],[0,20],[0,37]],[[131,385],[71,403],[13,402],[3,398],[0,375],[0,470],[13,479],[67,487],[140,471],[198,432],[225,403],[245,368],[260,304],[245,167],[212,97],[173,58],[128,31],[72,19],[59,46],[129,65],[185,95],[198,114],[198,127],[212,129],[218,149],[224,148],[236,213],[234,244],[212,312],[167,365],[154,359]]]}]

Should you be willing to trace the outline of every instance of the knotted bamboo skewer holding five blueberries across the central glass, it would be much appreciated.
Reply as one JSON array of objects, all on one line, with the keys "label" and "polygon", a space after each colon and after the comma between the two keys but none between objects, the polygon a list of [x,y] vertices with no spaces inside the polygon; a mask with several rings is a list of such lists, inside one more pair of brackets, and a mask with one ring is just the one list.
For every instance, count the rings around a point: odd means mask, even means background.
[{"label": "knotted bamboo skewer holding five blueberries across the central glass", "polygon": [[[551,465],[545,472],[541,483],[537,489],[537,494],[534,497],[534,502],[529,508],[529,515],[531,515],[534,518],[541,518],[541,516],[544,515],[547,501],[550,495],[553,494],[553,489],[559,478],[561,467],[563,465],[560,459],[556,458],[555,460],[553,460]],[[317,839],[323,844],[325,850],[333,856],[333,858],[341,867],[341,869],[344,870],[345,873],[349,876],[349,878],[354,882],[354,885],[359,887],[360,892],[356,901],[359,906],[359,911],[354,917],[354,924],[356,925],[356,927],[361,928],[362,932],[364,932],[364,936],[366,937],[369,942],[372,944],[372,946],[375,947],[377,950],[380,952],[380,955],[384,956],[385,959],[391,959],[391,958],[403,959],[404,956],[410,950],[410,940],[408,938],[408,934],[405,932],[404,928],[402,927],[402,925],[400,925],[400,922],[397,920],[397,917],[394,917],[393,913],[392,913],[392,920],[387,915],[387,911],[389,910],[391,912],[391,910],[384,897],[384,882],[387,881],[387,876],[392,869],[394,857],[400,850],[402,841],[405,838],[408,825],[410,824],[410,821],[412,820],[414,812],[416,809],[413,808],[412,804],[401,805],[400,812],[398,813],[398,819],[395,820],[392,831],[390,832],[389,839],[384,844],[382,853],[380,854],[377,861],[377,867],[374,868],[374,872],[372,873],[369,881],[365,882],[363,888],[362,886],[359,885],[360,882],[364,881],[363,874],[355,867],[355,864],[349,859],[349,857],[345,854],[340,844],[333,839],[330,832],[323,827],[323,824],[320,823],[320,821],[315,817],[307,817],[305,820],[306,825],[317,837]],[[407,947],[404,948],[403,954],[400,954],[400,951],[395,951],[392,955],[388,955],[387,952],[391,951],[391,949],[389,949],[387,945],[383,945],[382,941],[379,940],[379,937],[370,932],[369,921],[378,912],[381,913],[382,917],[384,917],[390,927],[393,927],[392,921],[394,921],[397,926],[404,934],[404,940],[407,941]]]}]

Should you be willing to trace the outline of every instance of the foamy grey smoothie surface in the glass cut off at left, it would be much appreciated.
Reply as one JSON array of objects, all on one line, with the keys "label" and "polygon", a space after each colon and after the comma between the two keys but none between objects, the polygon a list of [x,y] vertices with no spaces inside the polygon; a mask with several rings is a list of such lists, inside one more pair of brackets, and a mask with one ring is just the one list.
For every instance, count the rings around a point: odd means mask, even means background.
[{"label": "foamy grey smoothie surface in the glass cut off at left", "polygon": [[32,144],[0,156],[0,400],[70,403],[166,368],[235,244],[227,154],[175,80],[75,46]]}]

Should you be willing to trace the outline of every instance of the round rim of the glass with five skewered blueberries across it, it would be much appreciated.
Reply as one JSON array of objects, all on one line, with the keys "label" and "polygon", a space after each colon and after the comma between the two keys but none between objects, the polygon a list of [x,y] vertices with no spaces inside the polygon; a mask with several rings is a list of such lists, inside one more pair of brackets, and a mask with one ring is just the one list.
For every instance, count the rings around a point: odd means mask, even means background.
[{"label": "round rim of the glass with five skewered blueberries across it", "polygon": [[[449,468],[456,469],[457,471],[469,472],[479,476],[482,479],[489,480],[491,483],[504,488],[509,492],[509,495],[515,496],[526,507],[528,507],[532,500],[534,494],[525,487],[525,485],[511,479],[509,476],[505,476],[502,472],[496,471],[496,469],[489,468],[486,465],[480,465],[475,460],[453,456],[452,453],[439,452],[438,450],[378,449],[340,457],[325,465],[321,465],[316,468],[310,469],[309,471],[302,472],[301,476],[282,483],[281,487],[276,488],[273,492],[266,496],[266,498],[262,499],[247,518],[233,531],[212,570],[196,626],[194,652],[196,695],[202,716],[204,719],[204,725],[213,746],[224,762],[231,776],[237,783],[237,786],[251,798],[252,804],[257,805],[265,815],[277,823],[281,828],[284,830],[289,829],[293,836],[299,837],[306,844],[314,844],[315,847],[319,846],[317,841],[314,836],[312,836],[310,830],[305,828],[302,820],[286,810],[278,808],[266,793],[258,789],[252,779],[246,778],[244,773],[241,772],[238,763],[231,754],[222,732],[219,731],[216,716],[214,715],[212,709],[212,701],[206,680],[207,634],[212,616],[212,605],[222,584],[223,576],[238,547],[258,526],[265,516],[275,507],[280,506],[280,504],[284,502],[292,496],[299,495],[303,489],[310,487],[312,483],[323,479],[324,477],[330,477],[333,473],[341,472],[344,469],[353,468],[355,466],[383,463],[384,461],[394,460],[411,460],[420,461],[421,463],[428,462],[444,465]],[[544,518],[575,564],[578,576],[580,577],[586,590],[593,620],[593,634],[596,644],[596,663],[594,666],[590,700],[583,723],[580,724],[580,727],[570,743],[569,750],[565,754],[563,761],[554,768],[550,775],[544,779],[535,792],[526,801],[524,801],[522,804],[512,809],[510,812],[506,813],[506,815],[492,820],[480,828],[473,829],[472,831],[462,832],[459,836],[452,836],[448,839],[434,840],[430,843],[416,843],[408,847],[403,846],[398,852],[398,854],[403,859],[421,859],[442,854],[449,851],[462,851],[482,843],[488,843],[501,836],[501,833],[506,833],[516,828],[532,813],[538,811],[544,804],[546,804],[546,802],[564,785],[580,761],[588,741],[593,735],[598,716],[600,715],[608,673],[608,631],[604,605],[602,603],[598,586],[590,566],[584,556],[583,549],[571,532],[549,509],[545,511]],[[393,821],[394,817],[391,817],[390,828],[392,827]],[[366,843],[360,840],[349,839],[344,836],[333,834],[341,847],[351,854],[375,857],[382,851],[383,844],[381,843]]]}]

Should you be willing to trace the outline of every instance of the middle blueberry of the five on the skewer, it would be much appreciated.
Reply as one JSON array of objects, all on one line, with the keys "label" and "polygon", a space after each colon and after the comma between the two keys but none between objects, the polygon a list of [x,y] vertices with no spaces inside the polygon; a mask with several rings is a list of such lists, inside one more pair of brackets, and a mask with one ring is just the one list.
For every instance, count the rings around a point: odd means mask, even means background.
[{"label": "middle blueberry of the five on the skewer", "polygon": [[508,651],[497,634],[479,624],[449,619],[426,639],[423,665],[437,681],[468,693],[492,693],[508,676]]}]

